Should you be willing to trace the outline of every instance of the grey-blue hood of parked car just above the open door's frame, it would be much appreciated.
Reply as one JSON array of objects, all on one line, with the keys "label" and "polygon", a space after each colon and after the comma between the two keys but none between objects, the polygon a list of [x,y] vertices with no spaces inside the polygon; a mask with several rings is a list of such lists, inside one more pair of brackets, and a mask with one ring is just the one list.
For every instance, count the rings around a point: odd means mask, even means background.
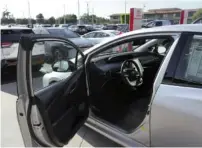
[{"label": "grey-blue hood of parked car just above the open door's frame", "polygon": [[95,45],[95,42],[92,42],[84,38],[71,38],[69,40],[72,41],[75,45],[77,45],[80,48],[88,48]]}]

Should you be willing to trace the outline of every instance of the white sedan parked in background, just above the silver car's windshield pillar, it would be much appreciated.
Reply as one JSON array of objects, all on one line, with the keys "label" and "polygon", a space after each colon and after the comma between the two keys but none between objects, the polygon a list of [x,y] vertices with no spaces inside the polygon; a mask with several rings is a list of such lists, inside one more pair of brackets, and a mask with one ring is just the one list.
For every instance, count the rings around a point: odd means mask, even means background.
[{"label": "white sedan parked in background, just above the silver car's windshield pillar", "polygon": [[92,31],[82,35],[83,38],[87,38],[95,43],[100,43],[106,39],[113,38],[122,32],[117,30],[99,30],[99,31]]}]

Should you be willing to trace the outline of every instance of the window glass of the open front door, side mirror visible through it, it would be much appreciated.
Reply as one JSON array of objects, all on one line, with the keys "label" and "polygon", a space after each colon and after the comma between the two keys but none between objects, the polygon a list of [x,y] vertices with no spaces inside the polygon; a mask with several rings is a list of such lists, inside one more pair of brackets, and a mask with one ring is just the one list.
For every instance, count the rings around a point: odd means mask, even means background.
[{"label": "window glass of the open front door, side mirror visible through it", "polygon": [[[79,58],[79,62],[76,60]],[[82,66],[82,57],[73,46],[60,41],[36,42],[32,50],[34,91],[70,77]]]}]

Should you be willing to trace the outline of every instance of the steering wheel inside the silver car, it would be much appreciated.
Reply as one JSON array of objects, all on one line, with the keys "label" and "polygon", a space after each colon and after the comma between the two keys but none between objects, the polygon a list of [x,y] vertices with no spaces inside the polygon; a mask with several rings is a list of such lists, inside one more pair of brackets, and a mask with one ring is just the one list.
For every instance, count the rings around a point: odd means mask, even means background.
[{"label": "steering wheel inside the silver car", "polygon": [[126,60],[123,62],[121,66],[121,75],[124,82],[131,87],[137,87],[143,83],[140,68],[133,60]]}]

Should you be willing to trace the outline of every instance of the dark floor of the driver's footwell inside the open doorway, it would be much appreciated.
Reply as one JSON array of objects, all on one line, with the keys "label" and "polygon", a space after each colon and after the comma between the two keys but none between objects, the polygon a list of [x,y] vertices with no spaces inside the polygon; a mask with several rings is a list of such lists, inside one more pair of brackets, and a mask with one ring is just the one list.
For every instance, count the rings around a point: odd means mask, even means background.
[{"label": "dark floor of the driver's footwell inside the open doorway", "polygon": [[[116,106],[116,107],[115,107]],[[139,99],[128,106],[115,105],[111,110],[92,110],[97,117],[110,122],[127,132],[133,131],[144,120],[148,109],[148,98]]]}]

